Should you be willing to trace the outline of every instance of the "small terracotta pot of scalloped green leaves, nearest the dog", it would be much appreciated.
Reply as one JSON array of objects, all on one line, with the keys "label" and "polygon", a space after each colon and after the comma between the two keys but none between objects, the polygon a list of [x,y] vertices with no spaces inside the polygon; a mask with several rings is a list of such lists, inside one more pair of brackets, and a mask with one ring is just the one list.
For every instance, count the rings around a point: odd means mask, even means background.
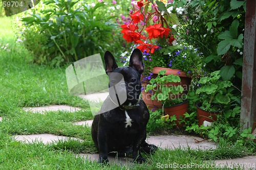
[{"label": "small terracotta pot of scalloped green leaves, nearest the dog", "polygon": [[[165,75],[166,70],[159,71],[156,78],[150,80],[147,84],[145,92],[151,92],[151,98],[162,103],[163,111],[166,115],[173,116],[179,119],[187,112],[188,102],[186,95],[182,94],[183,87],[177,85],[180,82],[180,77],[177,75]],[[179,120],[176,120],[178,127]]]}]

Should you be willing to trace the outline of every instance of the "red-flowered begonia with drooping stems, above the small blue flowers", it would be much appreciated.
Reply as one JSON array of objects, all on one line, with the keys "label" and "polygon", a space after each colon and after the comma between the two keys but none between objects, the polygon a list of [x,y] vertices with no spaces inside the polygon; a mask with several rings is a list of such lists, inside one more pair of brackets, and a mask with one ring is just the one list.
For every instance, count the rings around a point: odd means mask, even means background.
[{"label": "red-flowered begonia with drooping stems, above the small blue flowers", "polygon": [[130,23],[121,25],[121,33],[127,42],[138,44],[137,48],[142,52],[154,54],[163,47],[160,41],[172,45],[175,40],[172,26],[178,23],[178,18],[174,13],[168,13],[163,2],[140,0],[134,3],[130,17]]}]

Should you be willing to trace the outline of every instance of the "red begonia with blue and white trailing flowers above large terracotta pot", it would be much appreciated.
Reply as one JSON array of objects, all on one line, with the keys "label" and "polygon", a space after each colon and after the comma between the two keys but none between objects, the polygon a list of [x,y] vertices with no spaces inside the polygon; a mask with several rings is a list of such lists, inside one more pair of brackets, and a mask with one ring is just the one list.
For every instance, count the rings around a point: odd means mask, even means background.
[{"label": "red begonia with blue and white trailing flowers above large terracotta pot", "polygon": [[[145,76],[150,76],[155,66],[194,73],[196,67],[201,66],[201,53],[193,46],[178,45],[175,40],[178,37],[175,28],[179,25],[177,15],[183,14],[183,9],[175,10],[173,3],[144,1],[134,3],[131,21],[121,25],[121,33],[127,42],[134,42],[134,47],[143,52]],[[122,59],[125,63],[129,58],[122,54]]]}]

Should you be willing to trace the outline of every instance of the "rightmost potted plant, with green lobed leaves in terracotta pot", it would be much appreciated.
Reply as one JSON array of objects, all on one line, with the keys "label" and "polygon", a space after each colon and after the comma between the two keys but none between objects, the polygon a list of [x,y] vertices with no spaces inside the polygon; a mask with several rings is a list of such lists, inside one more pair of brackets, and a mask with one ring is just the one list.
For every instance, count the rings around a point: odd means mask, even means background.
[{"label": "rightmost potted plant, with green lobed leaves in terracotta pot", "polygon": [[[220,70],[211,72],[209,76],[199,80],[196,90],[200,103],[197,104],[199,126],[217,120],[217,115],[230,103],[230,93],[227,90],[232,85],[230,81],[220,81]],[[205,122],[206,121],[206,122]]]}]

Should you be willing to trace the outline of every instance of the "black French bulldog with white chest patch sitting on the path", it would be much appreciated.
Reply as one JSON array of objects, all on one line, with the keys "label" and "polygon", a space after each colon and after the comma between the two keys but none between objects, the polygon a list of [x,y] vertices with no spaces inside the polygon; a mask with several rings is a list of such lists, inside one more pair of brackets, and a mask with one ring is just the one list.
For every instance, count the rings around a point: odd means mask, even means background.
[{"label": "black French bulldog with white chest patch sitting on the path", "polygon": [[[141,150],[150,153],[157,147],[145,142],[150,114],[140,99],[140,75],[144,70],[141,51],[137,48],[133,51],[128,67],[118,67],[108,51],[104,54],[104,60],[110,79],[110,95],[103,102],[101,114],[94,117],[92,124],[92,138],[99,150],[99,162],[107,163],[110,152],[124,156],[129,151],[132,151],[134,161],[145,162]],[[123,97],[125,101],[121,102]]]}]

